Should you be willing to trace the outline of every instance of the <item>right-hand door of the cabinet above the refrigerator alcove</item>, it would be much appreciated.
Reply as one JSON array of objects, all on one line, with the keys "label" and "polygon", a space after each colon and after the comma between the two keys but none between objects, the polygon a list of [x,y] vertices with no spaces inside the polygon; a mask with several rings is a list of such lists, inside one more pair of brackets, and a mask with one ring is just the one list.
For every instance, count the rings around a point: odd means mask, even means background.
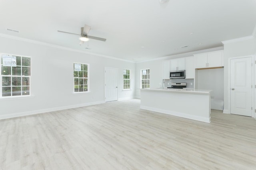
[{"label": "right-hand door of the cabinet above the refrigerator alcove", "polygon": [[220,67],[222,64],[223,51],[208,53],[208,67]]}]

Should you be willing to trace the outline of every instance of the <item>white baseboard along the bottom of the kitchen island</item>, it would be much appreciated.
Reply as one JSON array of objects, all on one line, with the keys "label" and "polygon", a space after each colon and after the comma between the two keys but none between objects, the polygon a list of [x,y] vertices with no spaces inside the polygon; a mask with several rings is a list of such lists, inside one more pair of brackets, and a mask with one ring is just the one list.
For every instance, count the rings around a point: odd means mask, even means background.
[{"label": "white baseboard along the bottom of the kitchen island", "polygon": [[193,119],[193,120],[197,120],[197,121],[203,121],[206,123],[210,123],[211,121],[211,117],[209,118],[205,118],[205,117],[200,117],[200,116],[195,116],[195,115],[189,115],[186,113],[181,113],[181,112],[177,112],[177,111],[170,111],[170,110],[164,110],[164,109],[158,109],[158,108],[154,108],[154,107],[148,107],[148,106],[140,106],[141,109],[145,109],[145,110],[150,110],[150,111],[156,111],[159,113],[165,113],[168,115],[174,115],[174,116],[178,116],[178,117],[184,117],[187,119]]}]

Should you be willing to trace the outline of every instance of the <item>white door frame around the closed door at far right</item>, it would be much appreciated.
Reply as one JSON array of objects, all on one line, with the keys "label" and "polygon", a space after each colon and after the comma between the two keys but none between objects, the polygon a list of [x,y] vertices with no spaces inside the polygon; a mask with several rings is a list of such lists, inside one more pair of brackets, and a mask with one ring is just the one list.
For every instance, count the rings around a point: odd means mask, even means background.
[{"label": "white door frame around the closed door at far right", "polygon": [[[232,59],[243,59],[243,58],[252,58],[252,117],[256,118],[256,113],[254,112],[256,109],[256,56],[255,55],[246,55],[246,56],[240,56],[240,57],[230,57],[228,58],[228,114],[231,114],[231,60]],[[225,77],[225,76],[224,76]]]}]

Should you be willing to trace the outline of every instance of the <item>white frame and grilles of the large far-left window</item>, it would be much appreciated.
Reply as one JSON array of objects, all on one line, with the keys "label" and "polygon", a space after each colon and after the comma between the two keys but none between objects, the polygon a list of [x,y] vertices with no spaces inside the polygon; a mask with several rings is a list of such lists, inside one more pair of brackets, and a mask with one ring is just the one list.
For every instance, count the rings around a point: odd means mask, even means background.
[{"label": "white frame and grilles of the large far-left window", "polygon": [[[2,62],[1,62],[1,58],[2,58],[2,55],[9,55],[9,56],[15,56],[15,57],[20,57],[20,72],[21,72],[21,75],[12,75],[12,67],[13,66],[10,66],[11,67],[11,75],[2,75]],[[23,67],[29,67],[30,68],[30,76],[24,76],[22,75],[22,57],[26,57],[26,58],[30,58],[30,66],[23,66]],[[13,54],[4,54],[4,53],[1,53],[0,54],[0,98],[23,98],[23,97],[30,97],[31,96],[31,72],[32,72],[32,66],[31,66],[31,60],[32,58],[29,57],[29,56],[24,56],[24,55],[13,55]],[[19,66],[19,65],[18,65]],[[11,82],[10,82],[10,87],[11,87],[11,96],[2,96],[2,77],[11,77]],[[12,95],[12,88],[15,87],[15,86],[12,86],[12,78],[13,77],[20,77],[21,78],[21,84],[20,87],[21,88],[21,94],[20,95]],[[29,78],[29,86],[24,86],[22,85],[22,78],[24,77],[27,77]],[[29,88],[29,94],[28,95],[23,95],[22,94],[22,87],[28,87]]]}]

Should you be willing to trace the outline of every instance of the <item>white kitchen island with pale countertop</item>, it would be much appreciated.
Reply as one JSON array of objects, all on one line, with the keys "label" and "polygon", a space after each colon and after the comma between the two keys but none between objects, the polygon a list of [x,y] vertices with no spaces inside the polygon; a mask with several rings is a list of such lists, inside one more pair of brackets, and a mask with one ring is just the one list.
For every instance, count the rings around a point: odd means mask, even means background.
[{"label": "white kitchen island with pale countertop", "polygon": [[140,108],[210,123],[212,90],[141,89]]}]

